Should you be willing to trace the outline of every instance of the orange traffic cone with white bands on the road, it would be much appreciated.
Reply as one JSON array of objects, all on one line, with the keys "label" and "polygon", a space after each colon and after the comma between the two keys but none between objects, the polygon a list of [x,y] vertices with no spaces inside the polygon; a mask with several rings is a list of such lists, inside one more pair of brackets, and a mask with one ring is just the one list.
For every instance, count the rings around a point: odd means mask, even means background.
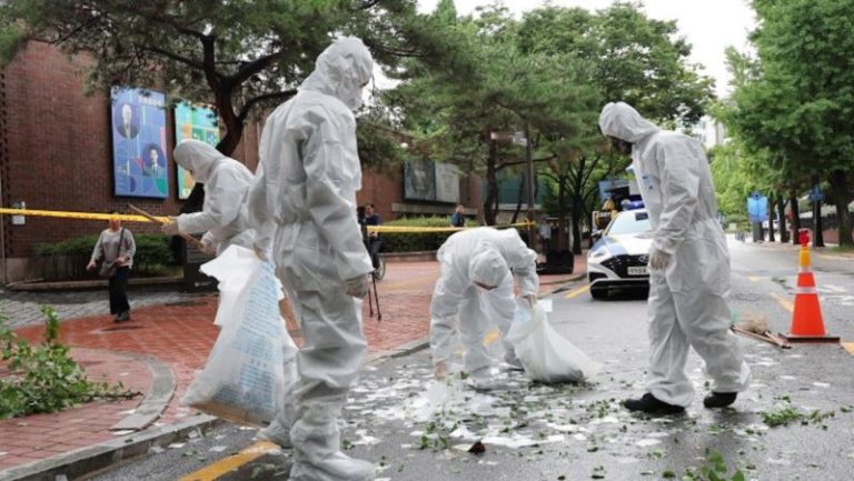
[{"label": "orange traffic cone with white bands on the road", "polygon": [[815,289],[815,275],[810,267],[810,233],[802,229],[801,254],[795,288],[795,311],[792,314],[792,328],[784,337],[792,342],[838,342],[840,338],[827,335],[822,320],[822,307]]}]

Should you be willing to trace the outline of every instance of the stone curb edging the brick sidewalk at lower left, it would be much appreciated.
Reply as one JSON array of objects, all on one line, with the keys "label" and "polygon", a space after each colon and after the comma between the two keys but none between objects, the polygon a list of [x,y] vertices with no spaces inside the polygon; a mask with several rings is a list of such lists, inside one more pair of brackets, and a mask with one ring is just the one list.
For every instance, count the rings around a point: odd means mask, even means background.
[{"label": "stone curb edging the brick sidewalk at lower left", "polygon": [[11,468],[0,472],[0,481],[54,481],[58,475],[68,479],[81,478],[145,454],[153,447],[190,438],[193,432],[198,433],[224,422],[206,414],[199,414],[198,418]]}]

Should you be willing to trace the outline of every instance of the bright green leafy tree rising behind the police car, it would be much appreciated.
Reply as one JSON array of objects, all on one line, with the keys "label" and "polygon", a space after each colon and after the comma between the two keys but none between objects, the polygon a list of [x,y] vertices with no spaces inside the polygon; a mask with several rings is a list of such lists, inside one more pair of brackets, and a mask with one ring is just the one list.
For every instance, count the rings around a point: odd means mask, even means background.
[{"label": "bright green leafy tree rising behind the police car", "polygon": [[577,119],[586,128],[552,144],[556,158],[545,174],[557,183],[558,206],[569,202],[575,253],[582,252],[580,226],[589,218],[598,181],[625,166],[608,152],[598,130],[602,101],[623,100],[651,119],[691,124],[712,99],[711,79],[687,62],[691,46],[676,33],[675,22],[649,19],[635,3],[596,13],[546,7],[522,20],[519,49],[576,66],[574,78],[593,90],[588,98],[599,99],[593,114],[586,111]]}]

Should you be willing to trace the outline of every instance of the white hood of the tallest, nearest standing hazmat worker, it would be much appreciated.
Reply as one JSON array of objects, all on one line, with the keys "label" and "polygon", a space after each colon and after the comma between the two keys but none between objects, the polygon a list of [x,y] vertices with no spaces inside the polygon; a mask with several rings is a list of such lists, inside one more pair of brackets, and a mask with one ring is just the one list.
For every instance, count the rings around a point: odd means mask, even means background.
[{"label": "white hood of the tallest, nearest standing hazmat worker", "polygon": [[374,59],[356,37],[341,37],[327,47],[315,62],[315,71],[301,89],[316,90],[344,102],[350,110],[361,107],[363,86],[368,83]]}]

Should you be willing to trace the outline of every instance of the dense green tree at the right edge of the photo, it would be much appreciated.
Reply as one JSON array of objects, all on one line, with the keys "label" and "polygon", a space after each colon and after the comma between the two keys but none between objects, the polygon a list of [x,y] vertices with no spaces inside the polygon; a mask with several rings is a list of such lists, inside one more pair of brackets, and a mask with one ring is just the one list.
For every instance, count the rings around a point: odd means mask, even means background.
[{"label": "dense green tree at the right edge of the photo", "polygon": [[[733,131],[774,152],[771,168],[793,181],[821,177],[833,190],[840,243],[854,245],[848,203],[854,170],[854,3],[756,0],[752,34],[758,74],[736,89]],[[818,219],[816,219],[818,220]]]}]

